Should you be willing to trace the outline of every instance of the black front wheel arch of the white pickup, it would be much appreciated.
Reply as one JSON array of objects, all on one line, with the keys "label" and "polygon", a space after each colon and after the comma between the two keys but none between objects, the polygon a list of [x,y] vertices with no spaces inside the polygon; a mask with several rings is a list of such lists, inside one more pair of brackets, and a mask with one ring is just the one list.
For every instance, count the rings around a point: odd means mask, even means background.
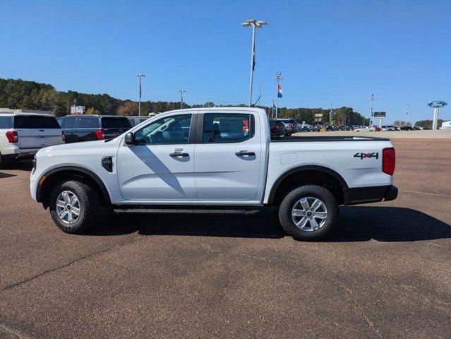
[{"label": "black front wheel arch of the white pickup", "polygon": [[92,172],[90,169],[78,166],[61,166],[54,169],[50,169],[41,175],[39,182],[41,182],[42,177],[45,176],[42,184],[37,185],[36,189],[36,200],[42,203],[44,208],[49,206],[49,196],[52,191],[52,186],[57,182],[61,182],[66,179],[79,179],[86,184],[92,186],[95,189],[97,196],[100,201],[106,205],[111,205],[111,199],[102,179]]}]

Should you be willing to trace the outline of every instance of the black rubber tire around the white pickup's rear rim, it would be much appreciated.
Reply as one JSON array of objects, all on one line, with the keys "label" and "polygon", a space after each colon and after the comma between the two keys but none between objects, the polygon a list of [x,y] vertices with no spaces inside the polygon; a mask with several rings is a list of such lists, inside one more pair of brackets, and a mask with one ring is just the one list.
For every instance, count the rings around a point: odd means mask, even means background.
[{"label": "black rubber tire around the white pickup's rear rim", "polygon": [[[305,197],[320,199],[327,209],[327,219],[325,220],[324,225],[322,225],[318,230],[301,230],[301,228],[295,225],[293,217],[291,217],[291,210],[294,208],[294,205],[301,198]],[[300,186],[293,191],[290,191],[289,194],[285,196],[279,208],[279,220],[285,232],[291,235],[291,237],[301,240],[316,241],[329,236],[335,230],[337,216],[338,204],[335,197],[330,193],[330,191],[327,191],[327,189],[316,185]],[[295,218],[295,220],[297,219]],[[311,225],[310,222],[308,223]],[[313,227],[311,227],[311,229],[312,228]]]}]

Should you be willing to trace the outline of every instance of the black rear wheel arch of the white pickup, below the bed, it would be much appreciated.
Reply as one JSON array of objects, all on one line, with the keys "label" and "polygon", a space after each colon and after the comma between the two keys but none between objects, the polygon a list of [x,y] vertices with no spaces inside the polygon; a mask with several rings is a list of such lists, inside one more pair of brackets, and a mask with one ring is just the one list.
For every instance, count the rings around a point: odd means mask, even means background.
[{"label": "black rear wheel arch of the white pickup, below the bed", "polygon": [[277,205],[280,203],[280,195],[287,191],[289,184],[296,182],[299,184],[318,184],[326,189],[331,189],[339,203],[344,200],[343,189],[348,188],[348,184],[343,177],[329,167],[320,165],[300,166],[289,169],[277,178],[270,190],[267,204]]}]

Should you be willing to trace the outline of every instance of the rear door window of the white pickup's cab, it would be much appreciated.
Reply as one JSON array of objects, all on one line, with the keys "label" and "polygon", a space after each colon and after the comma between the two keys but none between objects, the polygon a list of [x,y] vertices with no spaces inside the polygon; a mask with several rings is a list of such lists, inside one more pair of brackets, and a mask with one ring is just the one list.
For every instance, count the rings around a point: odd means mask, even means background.
[{"label": "rear door window of the white pickup's cab", "polygon": [[205,113],[203,143],[241,143],[253,137],[253,115]]}]

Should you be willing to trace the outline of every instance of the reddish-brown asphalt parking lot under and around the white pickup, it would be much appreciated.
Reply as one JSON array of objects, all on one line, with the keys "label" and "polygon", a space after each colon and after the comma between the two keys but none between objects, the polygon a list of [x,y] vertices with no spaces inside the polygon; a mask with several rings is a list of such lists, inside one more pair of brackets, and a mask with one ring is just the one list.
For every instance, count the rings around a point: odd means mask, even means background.
[{"label": "reddish-brown asphalt parking lot under and around the white pickup", "polygon": [[0,171],[0,338],[451,338],[451,143],[393,143],[397,200],[318,243],[266,210],[64,234]]}]

